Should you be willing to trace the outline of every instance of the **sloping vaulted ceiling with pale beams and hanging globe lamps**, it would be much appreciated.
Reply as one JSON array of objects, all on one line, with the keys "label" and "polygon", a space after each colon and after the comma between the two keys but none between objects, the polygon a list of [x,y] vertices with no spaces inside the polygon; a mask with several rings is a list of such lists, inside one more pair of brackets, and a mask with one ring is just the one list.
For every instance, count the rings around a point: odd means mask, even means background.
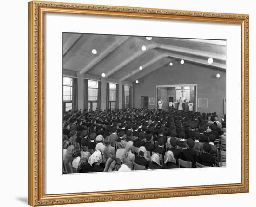
[{"label": "sloping vaulted ceiling with pale beams and hanging globe lamps", "polygon": [[[92,53],[94,48],[97,54]],[[212,64],[207,63],[209,57],[214,59]],[[80,75],[101,77],[105,73],[106,78],[134,82],[181,59],[225,70],[226,41],[63,33],[63,68]]]}]

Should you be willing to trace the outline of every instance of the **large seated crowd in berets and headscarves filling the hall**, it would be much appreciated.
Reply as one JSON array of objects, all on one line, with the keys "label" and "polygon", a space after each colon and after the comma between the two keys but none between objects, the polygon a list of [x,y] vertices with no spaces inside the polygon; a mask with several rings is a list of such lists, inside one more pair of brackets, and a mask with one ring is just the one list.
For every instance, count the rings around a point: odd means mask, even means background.
[{"label": "large seated crowd in berets and headscarves filling the hall", "polygon": [[[195,162],[218,166],[219,150],[226,144],[224,118],[186,110],[69,110],[63,114],[63,172],[134,170],[134,162],[152,169],[177,168],[173,160],[179,158],[193,167]],[[220,149],[214,145],[218,138]],[[136,156],[133,146],[139,149]]]}]

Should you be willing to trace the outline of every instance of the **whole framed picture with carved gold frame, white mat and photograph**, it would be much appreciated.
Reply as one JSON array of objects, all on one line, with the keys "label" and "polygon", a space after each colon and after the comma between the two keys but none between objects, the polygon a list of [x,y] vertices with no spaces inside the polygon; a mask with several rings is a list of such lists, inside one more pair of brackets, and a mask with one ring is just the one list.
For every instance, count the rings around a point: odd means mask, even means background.
[{"label": "whole framed picture with carved gold frame, white mat and photograph", "polygon": [[28,32],[29,205],[249,192],[249,15],[32,1]]}]

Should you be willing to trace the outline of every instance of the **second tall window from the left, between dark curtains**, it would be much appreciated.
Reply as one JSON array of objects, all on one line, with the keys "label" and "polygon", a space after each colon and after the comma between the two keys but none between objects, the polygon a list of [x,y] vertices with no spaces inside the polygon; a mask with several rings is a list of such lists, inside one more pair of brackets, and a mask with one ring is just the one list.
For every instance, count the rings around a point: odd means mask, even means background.
[{"label": "second tall window from the left, between dark curtains", "polygon": [[88,80],[88,109],[96,110],[98,101],[98,81]]}]

